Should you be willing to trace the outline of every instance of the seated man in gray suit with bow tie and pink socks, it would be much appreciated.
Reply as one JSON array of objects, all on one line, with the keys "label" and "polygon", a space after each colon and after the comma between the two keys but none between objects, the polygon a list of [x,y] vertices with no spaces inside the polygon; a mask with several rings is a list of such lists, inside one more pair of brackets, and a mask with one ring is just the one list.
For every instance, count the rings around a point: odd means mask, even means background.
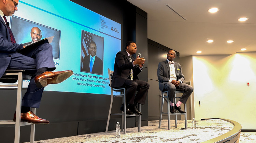
[{"label": "seated man in gray suit with bow tie and pink socks", "polygon": [[[193,87],[184,83],[184,75],[182,74],[181,65],[174,62],[176,52],[170,50],[167,53],[167,60],[158,64],[157,77],[159,80],[159,89],[161,91],[168,90],[168,96],[170,99],[171,113],[176,113],[175,109],[181,113],[185,113],[181,109],[181,103],[185,104],[189,95],[193,92]],[[181,99],[174,105],[173,97],[175,90],[179,89],[184,91]]]}]

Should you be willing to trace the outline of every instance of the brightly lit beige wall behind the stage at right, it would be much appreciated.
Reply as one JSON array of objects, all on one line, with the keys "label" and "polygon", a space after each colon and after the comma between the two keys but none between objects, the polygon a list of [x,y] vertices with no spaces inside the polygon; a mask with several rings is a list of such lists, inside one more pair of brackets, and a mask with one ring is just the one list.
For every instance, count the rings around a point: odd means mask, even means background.
[{"label": "brightly lit beige wall behind the stage at right", "polygon": [[227,118],[256,129],[256,52],[194,55],[192,61],[196,120]]}]

